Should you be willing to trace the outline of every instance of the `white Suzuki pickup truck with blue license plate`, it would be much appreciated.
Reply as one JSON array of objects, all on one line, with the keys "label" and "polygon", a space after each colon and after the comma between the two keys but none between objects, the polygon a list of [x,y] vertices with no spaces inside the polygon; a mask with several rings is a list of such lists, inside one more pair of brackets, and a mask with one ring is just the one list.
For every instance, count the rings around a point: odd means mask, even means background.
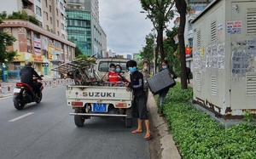
[{"label": "white Suzuki pickup truck with blue license plate", "polygon": [[[126,59],[114,58],[97,59],[93,65],[93,70],[97,77],[104,78],[108,74],[111,63],[121,65],[123,71],[126,71],[127,61]],[[126,77],[129,76],[126,75]],[[102,83],[90,86],[67,85],[67,105],[74,109],[70,115],[74,116],[76,126],[82,127],[85,119],[90,119],[91,116],[101,116],[102,118],[117,116],[125,118],[126,127],[132,127],[132,89],[125,88],[120,82]]]}]

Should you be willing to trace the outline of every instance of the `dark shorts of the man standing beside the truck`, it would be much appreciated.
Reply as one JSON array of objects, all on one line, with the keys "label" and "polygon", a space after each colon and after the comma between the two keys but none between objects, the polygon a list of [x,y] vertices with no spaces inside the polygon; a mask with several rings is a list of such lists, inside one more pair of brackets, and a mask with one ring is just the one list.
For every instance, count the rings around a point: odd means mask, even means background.
[{"label": "dark shorts of the man standing beside the truck", "polygon": [[132,117],[140,118],[141,120],[148,120],[146,96],[139,99],[134,99],[132,106]]}]

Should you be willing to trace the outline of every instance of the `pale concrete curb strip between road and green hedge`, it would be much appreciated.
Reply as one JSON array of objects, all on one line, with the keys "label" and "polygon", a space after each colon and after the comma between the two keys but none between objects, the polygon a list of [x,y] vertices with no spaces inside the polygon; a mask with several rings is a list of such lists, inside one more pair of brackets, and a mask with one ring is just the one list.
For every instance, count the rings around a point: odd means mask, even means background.
[{"label": "pale concrete curb strip between road and green hedge", "polygon": [[[180,82],[180,78],[175,79],[175,81]],[[193,79],[190,79],[189,81],[190,83],[188,84],[188,86],[193,87]],[[175,145],[175,142],[173,140],[171,130],[167,128],[168,123],[166,123],[164,117],[159,116],[159,114],[157,113],[157,104],[154,99],[154,95],[151,94],[150,91],[148,93],[148,111],[151,116],[151,122],[153,124],[153,127],[159,130],[160,149],[162,150],[161,159],[181,159],[182,157],[177,150],[177,146]]]}]

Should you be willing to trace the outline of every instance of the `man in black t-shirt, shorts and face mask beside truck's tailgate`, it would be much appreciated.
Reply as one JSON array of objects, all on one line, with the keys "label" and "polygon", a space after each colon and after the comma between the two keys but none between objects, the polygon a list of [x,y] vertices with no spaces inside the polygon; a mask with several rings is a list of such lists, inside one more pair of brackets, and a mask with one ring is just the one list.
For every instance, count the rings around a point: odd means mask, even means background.
[{"label": "man in black t-shirt, shorts and face mask beside truck's tailgate", "polygon": [[125,82],[125,87],[133,89],[134,103],[132,105],[132,116],[137,118],[137,129],[131,133],[143,133],[143,121],[145,121],[147,132],[144,139],[151,139],[146,94],[143,90],[143,74],[137,71],[137,62],[135,60],[129,60],[126,63],[126,67],[131,72],[131,82]]}]

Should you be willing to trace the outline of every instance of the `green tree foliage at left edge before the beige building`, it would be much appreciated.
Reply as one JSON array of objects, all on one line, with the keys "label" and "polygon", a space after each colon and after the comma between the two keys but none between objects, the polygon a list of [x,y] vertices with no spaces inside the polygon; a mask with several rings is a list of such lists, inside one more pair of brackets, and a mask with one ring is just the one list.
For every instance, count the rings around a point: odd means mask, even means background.
[{"label": "green tree foliage at left edge before the beige building", "polygon": [[[2,17],[0,16],[0,24],[3,23]],[[3,29],[0,29],[0,63],[9,63],[13,61],[17,52],[14,50],[7,51],[8,46],[12,46],[15,43],[15,37],[9,35],[7,32],[4,32]]]}]

